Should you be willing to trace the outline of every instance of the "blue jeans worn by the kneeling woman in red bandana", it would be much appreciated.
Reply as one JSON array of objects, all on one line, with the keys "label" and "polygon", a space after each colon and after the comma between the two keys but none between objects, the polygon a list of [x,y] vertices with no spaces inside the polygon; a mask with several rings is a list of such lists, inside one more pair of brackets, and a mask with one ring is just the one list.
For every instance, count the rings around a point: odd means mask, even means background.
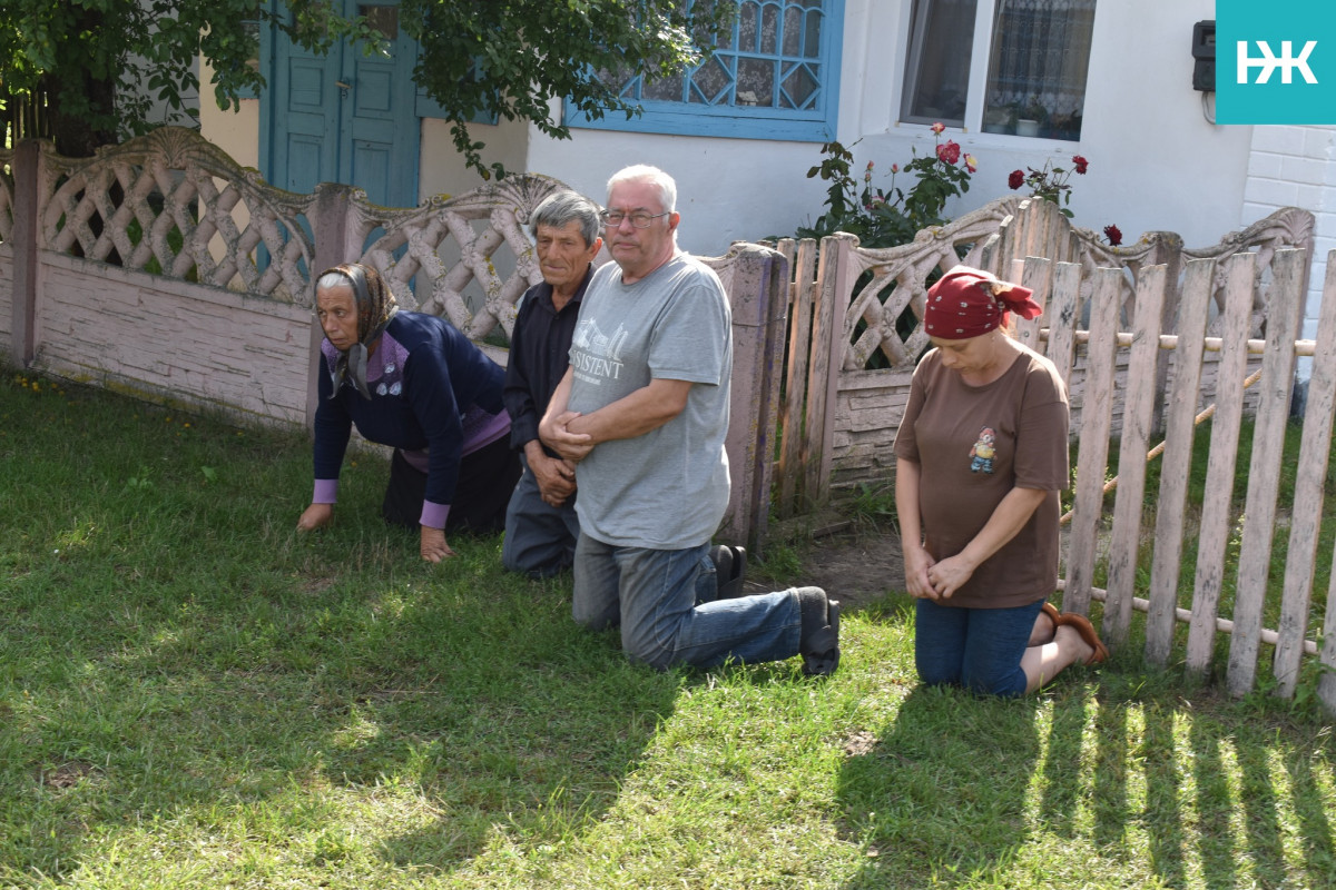
[{"label": "blue jeans worn by the kneeling woman in red bandana", "polygon": [[1002,698],[1023,695],[1021,656],[1042,607],[1042,599],[1013,608],[953,608],[919,599],[914,620],[919,679]]}]

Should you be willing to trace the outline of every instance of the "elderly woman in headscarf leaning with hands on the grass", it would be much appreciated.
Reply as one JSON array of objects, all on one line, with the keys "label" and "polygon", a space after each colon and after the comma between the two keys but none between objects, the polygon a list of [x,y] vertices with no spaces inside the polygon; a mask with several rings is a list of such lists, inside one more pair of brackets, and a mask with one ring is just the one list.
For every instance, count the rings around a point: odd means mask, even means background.
[{"label": "elderly woman in headscarf leaning with hands on the grass", "polygon": [[325,526],[353,424],[394,448],[385,520],[421,530],[422,558],[453,556],[446,532],[496,532],[520,476],[505,371],[441,318],[401,312],[381,275],[349,263],[321,274],[315,495],[297,527]]}]

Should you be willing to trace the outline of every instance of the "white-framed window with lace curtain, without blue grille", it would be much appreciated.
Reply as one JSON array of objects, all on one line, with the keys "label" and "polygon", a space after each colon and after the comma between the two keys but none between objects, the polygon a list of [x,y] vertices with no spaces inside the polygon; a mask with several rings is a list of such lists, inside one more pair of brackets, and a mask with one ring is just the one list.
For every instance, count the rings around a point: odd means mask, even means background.
[{"label": "white-framed window with lace curtain, without blue grille", "polygon": [[914,0],[900,120],[1081,139],[1096,0]]}]

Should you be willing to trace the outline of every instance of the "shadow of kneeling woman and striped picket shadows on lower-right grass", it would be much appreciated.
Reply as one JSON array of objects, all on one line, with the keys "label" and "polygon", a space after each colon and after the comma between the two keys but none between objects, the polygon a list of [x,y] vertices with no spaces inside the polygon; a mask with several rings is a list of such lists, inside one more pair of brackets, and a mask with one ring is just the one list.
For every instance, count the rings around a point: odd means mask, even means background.
[{"label": "shadow of kneeling woman and striped picket shadows on lower-right grass", "polygon": [[912,689],[842,767],[844,886],[1336,886],[1329,726],[1176,670],[1073,681]]}]

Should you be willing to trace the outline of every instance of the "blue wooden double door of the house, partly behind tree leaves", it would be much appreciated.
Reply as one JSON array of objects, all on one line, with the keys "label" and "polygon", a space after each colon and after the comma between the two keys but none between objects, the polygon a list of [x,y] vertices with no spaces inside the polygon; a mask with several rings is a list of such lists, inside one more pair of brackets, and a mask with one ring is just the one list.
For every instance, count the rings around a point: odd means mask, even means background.
[{"label": "blue wooden double door of the house, partly behind tree leaves", "polygon": [[361,45],[317,55],[270,35],[270,88],[261,96],[261,171],[289,191],[318,183],[366,189],[377,204],[417,205],[421,125],[414,109],[417,41],[398,25],[398,0],[343,0],[386,36],[389,57]]}]

